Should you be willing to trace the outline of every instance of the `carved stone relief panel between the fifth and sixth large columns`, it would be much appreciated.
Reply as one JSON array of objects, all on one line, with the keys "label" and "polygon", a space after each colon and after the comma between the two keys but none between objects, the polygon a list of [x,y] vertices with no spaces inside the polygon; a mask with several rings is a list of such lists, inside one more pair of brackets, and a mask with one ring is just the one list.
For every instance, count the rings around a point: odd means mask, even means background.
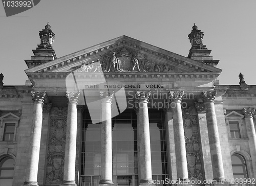
[{"label": "carved stone relief panel between the fifth and sixth large columns", "polygon": [[185,133],[187,170],[190,180],[201,180],[204,176],[202,171],[199,124],[197,122],[197,112],[195,107],[182,110],[183,125]]}]

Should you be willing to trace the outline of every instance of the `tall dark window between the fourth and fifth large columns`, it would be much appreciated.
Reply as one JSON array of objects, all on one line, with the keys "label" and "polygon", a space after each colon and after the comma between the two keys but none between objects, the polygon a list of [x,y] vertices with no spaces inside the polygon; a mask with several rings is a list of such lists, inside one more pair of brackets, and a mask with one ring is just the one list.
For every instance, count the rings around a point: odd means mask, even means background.
[{"label": "tall dark window between the fourth and fifth large columns", "polygon": [[[161,110],[148,110],[150,118],[150,143],[153,180],[168,178],[166,136],[164,126],[164,112]],[[157,185],[164,185],[163,181]]]}]

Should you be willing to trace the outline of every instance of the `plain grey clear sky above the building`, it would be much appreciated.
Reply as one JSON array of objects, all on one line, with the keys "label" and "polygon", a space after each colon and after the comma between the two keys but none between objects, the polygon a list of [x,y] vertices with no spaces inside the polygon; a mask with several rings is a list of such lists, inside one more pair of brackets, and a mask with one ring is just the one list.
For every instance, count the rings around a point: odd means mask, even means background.
[{"label": "plain grey clear sky above the building", "polygon": [[56,34],[57,57],[126,35],[186,56],[194,22],[203,44],[219,59],[220,84],[256,84],[254,57],[256,1],[67,1],[41,0],[32,9],[6,17],[0,4],[0,73],[4,85],[25,85],[25,59],[40,43],[47,22]]}]

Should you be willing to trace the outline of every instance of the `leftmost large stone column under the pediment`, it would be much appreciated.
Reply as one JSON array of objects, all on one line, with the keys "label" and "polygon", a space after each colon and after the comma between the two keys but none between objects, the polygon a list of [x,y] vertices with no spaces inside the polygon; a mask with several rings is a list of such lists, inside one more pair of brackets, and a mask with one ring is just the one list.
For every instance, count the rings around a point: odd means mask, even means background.
[{"label": "leftmost large stone column under the pediment", "polygon": [[30,137],[30,149],[28,153],[28,167],[26,181],[23,185],[38,185],[37,173],[39,163],[41,129],[42,129],[42,106],[46,100],[46,92],[31,92],[34,102],[32,116],[32,132]]}]

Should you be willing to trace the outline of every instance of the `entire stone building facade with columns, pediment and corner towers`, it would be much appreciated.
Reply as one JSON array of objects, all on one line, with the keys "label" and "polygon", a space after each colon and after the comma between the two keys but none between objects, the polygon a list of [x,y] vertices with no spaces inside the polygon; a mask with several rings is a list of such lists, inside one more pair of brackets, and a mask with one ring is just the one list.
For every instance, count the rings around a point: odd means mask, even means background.
[{"label": "entire stone building facade with columns, pediment and corner towers", "polygon": [[[156,176],[226,185],[237,176],[236,154],[244,158],[246,178],[256,178],[256,85],[247,85],[242,74],[239,85],[220,85],[219,60],[209,56],[197,26],[189,34],[188,57],[121,36],[57,58],[49,24],[39,36],[34,56],[25,60],[25,86],[4,85],[0,74],[0,165],[14,159],[12,185],[88,185],[84,180],[93,176],[99,179],[92,185],[116,185],[120,176],[133,186],[151,185]],[[127,110],[137,114],[138,159],[134,173],[113,174],[113,118]],[[164,113],[157,127],[164,131],[167,165],[158,175],[152,110]],[[87,175],[84,131],[99,122],[101,158],[92,169],[100,171]]]}]

